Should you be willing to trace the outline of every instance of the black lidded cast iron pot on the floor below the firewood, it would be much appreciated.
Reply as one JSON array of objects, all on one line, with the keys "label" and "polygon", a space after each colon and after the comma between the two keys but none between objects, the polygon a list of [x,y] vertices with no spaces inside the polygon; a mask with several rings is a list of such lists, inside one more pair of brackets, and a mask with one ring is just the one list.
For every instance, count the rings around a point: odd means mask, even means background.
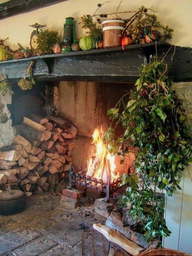
[{"label": "black lidded cast iron pot on the floor below the firewood", "polygon": [[[13,185],[13,184],[10,184]],[[10,186],[0,193],[0,215],[8,216],[24,211],[26,207],[25,189],[20,184],[14,184],[22,190],[11,189]]]}]

